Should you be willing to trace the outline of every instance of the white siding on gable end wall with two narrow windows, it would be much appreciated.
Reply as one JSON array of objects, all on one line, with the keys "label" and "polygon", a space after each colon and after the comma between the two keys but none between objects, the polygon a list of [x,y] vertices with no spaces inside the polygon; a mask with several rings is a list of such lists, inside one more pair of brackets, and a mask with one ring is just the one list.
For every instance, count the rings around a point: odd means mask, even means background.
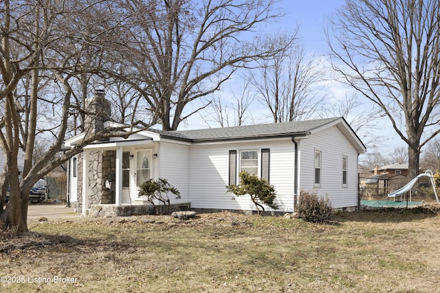
[{"label": "white siding on gable end wall with two narrow windows", "polygon": [[[314,185],[315,150],[320,150],[321,185]],[[342,155],[357,158],[358,152],[336,126],[311,134],[300,142],[299,190],[315,191],[318,196],[328,196],[333,208],[358,205],[358,161],[347,160],[347,187],[341,186]]]}]

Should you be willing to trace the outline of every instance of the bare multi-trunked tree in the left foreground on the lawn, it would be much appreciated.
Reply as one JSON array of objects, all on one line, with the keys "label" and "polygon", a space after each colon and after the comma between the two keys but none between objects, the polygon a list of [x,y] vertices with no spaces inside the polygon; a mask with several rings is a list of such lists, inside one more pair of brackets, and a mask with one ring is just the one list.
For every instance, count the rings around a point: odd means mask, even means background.
[{"label": "bare multi-trunked tree in the left foreground on the lawn", "polygon": [[[32,185],[88,143],[115,136],[107,131],[98,132],[85,137],[65,154],[59,153],[68,130],[69,115],[74,111],[85,113],[81,108],[83,105],[71,104],[74,80],[78,80],[78,75],[99,69],[99,64],[85,65],[89,59],[83,50],[87,46],[82,44],[87,43],[89,49],[93,47],[100,51],[97,39],[100,40],[106,32],[97,26],[100,21],[91,21],[93,18],[83,21],[81,16],[94,8],[102,9],[104,5],[98,0],[96,3],[93,0],[5,0],[3,3],[0,11],[0,99],[4,111],[0,147],[5,153],[5,169],[0,176],[0,220],[2,227],[9,226],[14,233],[23,233],[28,231],[28,201]],[[91,27],[96,31],[84,34]],[[20,81],[26,85],[17,86]],[[43,84],[52,84],[54,92],[48,95],[42,90]],[[41,107],[54,109],[57,121],[52,123],[56,126],[48,126],[46,120],[41,120]],[[34,157],[36,137],[43,130],[53,134],[53,143],[43,154]],[[20,148],[25,152],[21,180],[17,162]],[[3,209],[7,187],[10,200]]]}]

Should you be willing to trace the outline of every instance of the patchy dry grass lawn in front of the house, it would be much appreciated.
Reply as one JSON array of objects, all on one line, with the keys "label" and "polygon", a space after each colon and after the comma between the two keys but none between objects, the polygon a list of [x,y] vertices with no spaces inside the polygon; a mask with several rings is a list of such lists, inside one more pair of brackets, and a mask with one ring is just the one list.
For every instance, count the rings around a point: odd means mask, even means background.
[{"label": "patchy dry grass lawn in front of the house", "polygon": [[[0,291],[440,292],[440,215],[386,209],[333,220],[214,213],[30,222],[30,235],[0,241],[0,276],[16,282],[2,279]],[[24,239],[33,241],[25,249],[8,246]]]}]

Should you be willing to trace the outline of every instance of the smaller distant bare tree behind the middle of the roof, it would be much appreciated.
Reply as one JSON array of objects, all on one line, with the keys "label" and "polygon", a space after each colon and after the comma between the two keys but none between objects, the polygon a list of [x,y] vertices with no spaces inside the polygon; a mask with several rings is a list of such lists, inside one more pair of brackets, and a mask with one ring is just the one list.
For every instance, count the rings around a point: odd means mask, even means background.
[{"label": "smaller distant bare tree behind the middle of the roof", "polygon": [[316,114],[323,98],[320,86],[323,71],[316,54],[307,56],[296,44],[297,31],[268,40],[276,47],[285,47],[273,58],[259,60],[259,69],[250,71],[249,80],[256,97],[270,110],[273,121],[298,121]]}]

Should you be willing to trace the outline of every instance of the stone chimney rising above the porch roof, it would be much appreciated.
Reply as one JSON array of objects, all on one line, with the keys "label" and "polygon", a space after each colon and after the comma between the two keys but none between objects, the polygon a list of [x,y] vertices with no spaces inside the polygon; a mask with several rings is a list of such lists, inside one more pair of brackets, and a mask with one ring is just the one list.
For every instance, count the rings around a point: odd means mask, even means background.
[{"label": "stone chimney rising above the porch roof", "polygon": [[[104,90],[96,90],[94,97],[85,99],[85,136],[92,135],[104,130],[104,122],[111,117],[111,104],[104,97]],[[108,140],[108,139],[107,139]]]}]

